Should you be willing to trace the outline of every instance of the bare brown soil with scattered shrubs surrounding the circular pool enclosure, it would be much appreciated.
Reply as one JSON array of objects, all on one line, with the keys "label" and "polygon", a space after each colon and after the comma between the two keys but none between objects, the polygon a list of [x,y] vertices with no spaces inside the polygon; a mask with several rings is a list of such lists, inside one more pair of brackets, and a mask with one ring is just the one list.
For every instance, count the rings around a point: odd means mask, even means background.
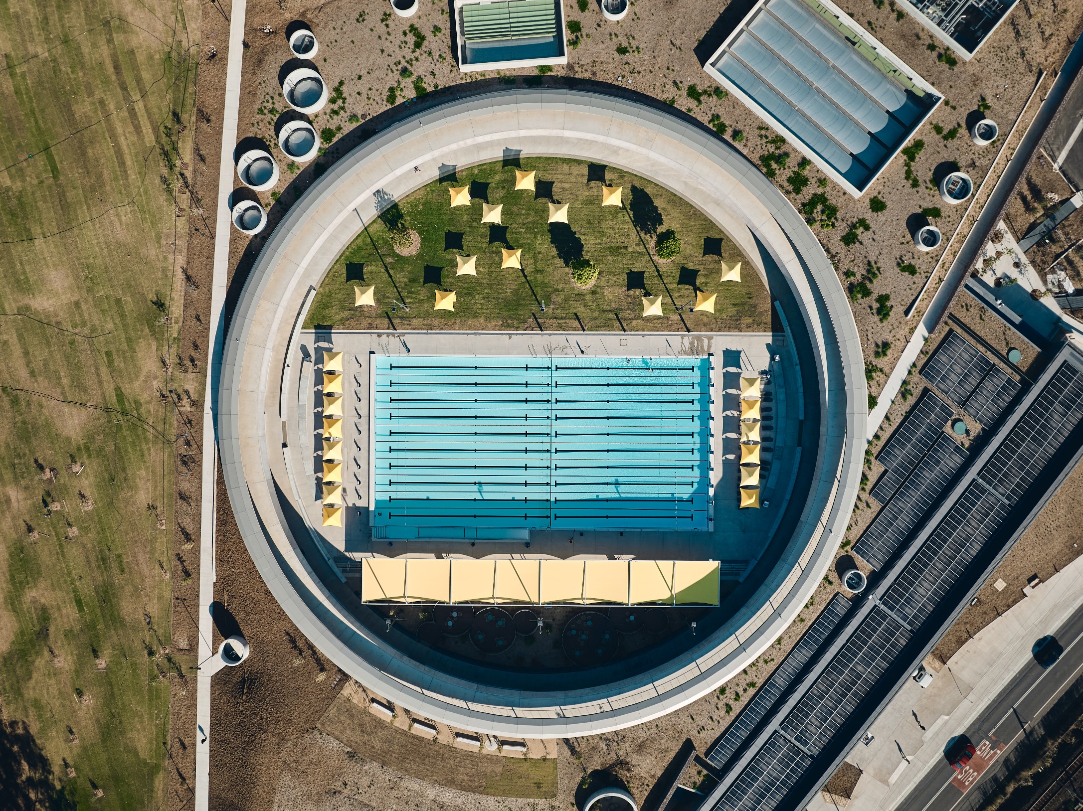
[{"label": "bare brown soil with scattered shrubs surrounding the circular pool enclosure", "polygon": [[[896,22],[893,3],[875,9],[864,3],[843,2],[845,10],[947,95],[945,105],[938,108],[929,125],[918,133],[924,146],[911,166],[900,156],[862,199],[854,200],[812,168],[804,170],[810,181],[808,188],[794,194],[784,181],[800,156],[788,147],[768,143],[773,133],[760,129],[760,121],[739,102],[710,93],[714,84],[700,65],[725,37],[727,26],[743,16],[743,10],[738,12],[738,4],[729,9],[726,3],[704,4],[699,0],[641,3],[634,6],[625,23],[612,25],[601,22],[593,4],[580,12],[575,3],[567,2],[567,19],[582,25],[582,36],[573,36],[577,47],[570,51],[571,64],[554,67],[544,79],[534,70],[518,73],[530,75],[532,81],[546,82],[573,77],[623,86],[625,79],[630,79],[628,84],[632,91],[671,100],[677,108],[716,130],[725,125],[730,139],[740,131],[744,138],[734,146],[757,165],[761,163],[761,156],[786,154],[786,167],[775,181],[795,205],[800,206],[813,193],[822,192],[837,206],[837,214],[822,223],[833,227],[815,227],[815,233],[835,262],[844,286],[864,280],[873,297],[890,297],[885,304],[892,309],[883,321],[872,306],[875,298],[862,299],[857,293],[854,302],[866,357],[873,358],[879,349],[883,359],[877,359],[876,364],[890,369],[913,325],[902,317],[902,311],[937,260],[936,254],[918,254],[913,250],[908,220],[923,208],[939,207],[941,215],[934,221],[950,235],[962,217],[960,209],[965,207],[942,205],[931,183],[938,176],[936,172],[942,171],[950,161],[957,161],[980,182],[995,155],[996,147],[979,149],[969,142],[965,131],[954,128],[965,125],[967,116],[984,96],[991,105],[989,115],[1001,123],[1002,132],[1006,132],[1029,95],[1038,69],[1059,66],[1069,47],[1070,34],[1079,29],[1083,19],[1083,5],[1057,0],[1025,0],[976,60],[949,67],[947,61],[938,60],[942,51],[936,45],[927,50],[926,44],[931,40],[915,21],[904,16]],[[453,93],[454,89],[448,88],[458,82],[497,83],[494,77],[461,75],[455,67],[448,45],[446,4],[423,2],[421,11],[405,24],[386,14],[383,8],[371,4],[358,10],[356,4],[344,0],[318,5],[275,0],[249,2],[246,30],[249,47],[245,54],[239,134],[263,138],[269,145],[274,144],[273,125],[285,106],[277,89],[277,75],[288,56],[283,30],[293,18],[304,17],[313,25],[321,40],[317,66],[331,88],[339,87],[341,96],[315,117],[317,131],[323,131],[330,142],[323,160],[304,169],[291,170],[284,166],[278,187],[263,195],[264,204],[273,206],[272,225],[288,202],[296,199],[331,160],[383,125],[384,119],[379,116],[389,106],[391,88],[395,89],[391,103],[397,105],[422,88],[427,93]],[[192,200],[194,209],[203,211],[205,219],[192,218],[187,271],[193,284],[198,286],[197,290],[192,290],[190,285],[190,295],[200,296],[209,289],[210,280],[219,155],[216,132],[221,126],[229,30],[218,5],[206,2],[203,13],[204,52],[206,54],[206,45],[214,44],[219,55],[213,60],[205,58],[198,86],[199,120]],[[407,25],[415,26],[416,32]],[[275,32],[265,35],[260,31],[262,26],[270,26]],[[617,53],[617,47],[628,49],[628,53]],[[1000,77],[1009,77],[1007,83]],[[499,83],[506,81],[507,77]],[[954,130],[957,136],[937,135],[931,125],[938,125],[944,134]],[[908,170],[917,178],[916,188],[904,176]],[[869,206],[872,197],[883,199],[886,210],[873,213]],[[862,220],[869,224],[869,231],[862,230],[859,224]],[[851,247],[841,241],[848,231],[856,231],[859,236],[859,241]],[[243,273],[269,233],[270,228],[251,240],[234,234],[231,269],[239,264]],[[899,270],[900,265],[908,264],[914,266],[913,275]],[[234,292],[235,288],[231,295]],[[179,362],[186,362],[193,368],[201,367],[206,341],[200,340],[203,333],[197,317],[206,317],[206,300],[192,295],[191,308],[187,298],[185,303],[182,336],[185,341],[195,341],[198,345],[184,343],[185,351],[180,353]],[[192,350],[187,350],[190,345]],[[873,377],[872,389],[876,391],[884,376],[874,372]],[[896,404],[892,418],[897,419],[902,410],[902,404]],[[197,429],[198,413],[191,416],[196,420],[193,428]],[[194,471],[195,485],[198,459],[193,457],[191,468],[180,460],[178,463]],[[1062,532],[1056,521],[1047,521],[1046,516],[1057,505],[1070,503],[1070,494],[1079,486],[1079,481],[1077,472],[1020,541],[1020,549],[1032,535],[1038,538],[1045,537],[1043,532],[1046,536]],[[190,497],[197,514],[198,489],[193,486],[192,490]],[[1067,509],[1061,509],[1067,515]],[[196,571],[193,561],[197,563],[194,552],[198,549],[198,527],[185,525],[185,529],[195,542],[193,554],[185,554],[186,565]],[[655,722],[562,744],[556,800],[497,801],[433,786],[357,757],[341,743],[314,731],[312,728],[341,686],[336,686],[338,675],[319,659],[266,591],[236,534],[227,502],[219,507],[219,533],[216,597],[226,602],[236,615],[242,628],[250,635],[258,655],[238,668],[239,672],[230,671],[225,678],[220,676],[214,686],[212,717],[216,729],[246,731],[231,735],[220,732],[214,737],[211,803],[217,809],[566,808],[580,780],[595,769],[613,771],[628,783],[634,796],[642,800],[680,741],[690,736],[703,751],[720,734],[807,627],[805,623],[836,588],[834,583],[823,584],[803,612],[804,622],[795,623],[769,653],[727,684],[725,692],[705,696]],[[183,534],[182,537],[186,538]],[[1069,548],[1074,549],[1070,545]],[[1004,566],[1012,560],[1009,555]],[[1019,572],[1034,568],[1028,563],[1019,565]],[[1032,573],[1028,571],[1027,575]],[[836,576],[828,577],[837,580]],[[1009,583],[1015,593],[1018,592],[1018,576],[1013,578]],[[1004,596],[1008,591],[1005,589]],[[984,604],[979,602],[975,607]],[[178,616],[180,613],[177,612]],[[964,620],[967,619],[968,615],[964,614]],[[323,680],[317,681],[321,676]],[[186,723],[192,725],[191,721]],[[700,776],[694,772],[690,775],[693,781]]]}]

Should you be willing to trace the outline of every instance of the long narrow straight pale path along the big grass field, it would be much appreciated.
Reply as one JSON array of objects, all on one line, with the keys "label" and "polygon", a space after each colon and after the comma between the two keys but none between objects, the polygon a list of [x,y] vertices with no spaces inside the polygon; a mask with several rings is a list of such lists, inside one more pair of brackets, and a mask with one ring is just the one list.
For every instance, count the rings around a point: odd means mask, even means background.
[{"label": "long narrow straight pale path along the big grass field", "polygon": [[210,297],[210,353],[207,389],[204,391],[203,495],[199,522],[199,663],[196,675],[196,797],[195,811],[207,811],[210,798],[210,677],[207,660],[213,654],[214,600],[214,502],[218,479],[218,443],[214,430],[214,390],[222,358],[222,308],[230,270],[229,198],[233,191],[233,151],[237,143],[237,114],[240,105],[240,63],[245,48],[245,2],[233,0],[230,19],[230,51],[225,69],[225,108],[222,112],[222,156],[218,174],[218,218],[214,222],[214,275]]}]

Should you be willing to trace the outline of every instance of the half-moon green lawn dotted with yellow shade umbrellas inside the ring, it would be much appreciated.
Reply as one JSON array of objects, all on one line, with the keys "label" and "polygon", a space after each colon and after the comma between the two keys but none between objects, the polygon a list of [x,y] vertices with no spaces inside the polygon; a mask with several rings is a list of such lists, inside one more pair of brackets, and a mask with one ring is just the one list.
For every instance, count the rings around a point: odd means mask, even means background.
[{"label": "half-moon green lawn dotted with yellow shade umbrellas inside the ring", "polygon": [[[460,169],[397,201],[343,251],[316,293],[305,326],[386,329],[587,329],[769,331],[770,297],[734,243],[690,202],[613,167],[563,158],[523,158],[535,192],[514,191],[499,161]],[[623,186],[624,206],[601,206],[602,179]],[[469,207],[451,208],[451,186],[471,186]],[[480,198],[480,199],[479,199]],[[503,205],[501,225],[481,222],[482,200]],[[548,224],[548,202],[569,204],[569,224]],[[399,256],[388,225],[397,218],[420,236]],[[651,256],[655,235],[673,230],[676,259]],[[522,270],[500,269],[501,248],[522,249]],[[477,276],[456,276],[456,256],[477,256]],[[599,269],[589,289],[572,283],[577,259]],[[720,283],[720,261],[742,261],[740,283]],[[376,286],[376,308],[354,308],[354,286]],[[433,312],[436,289],[455,290],[455,312]],[[642,317],[641,298],[662,296],[663,317]],[[690,312],[695,290],[717,293],[715,314]],[[409,306],[403,310],[397,300]],[[542,312],[542,303],[545,312]],[[688,305],[678,314],[677,306]],[[683,322],[682,322],[683,317]]]}]

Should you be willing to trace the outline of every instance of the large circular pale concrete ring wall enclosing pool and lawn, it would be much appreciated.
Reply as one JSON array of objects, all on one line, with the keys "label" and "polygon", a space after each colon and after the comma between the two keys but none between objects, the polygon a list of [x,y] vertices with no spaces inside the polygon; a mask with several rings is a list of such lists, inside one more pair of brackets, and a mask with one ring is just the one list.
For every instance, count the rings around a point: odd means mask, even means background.
[{"label": "large circular pale concrete ring wall enclosing pool and lawn", "polygon": [[[820,406],[815,479],[786,552],[722,628],[671,660],[622,681],[552,692],[480,684],[405,657],[348,611],[295,538],[280,449],[279,387],[289,332],[310,286],[376,215],[441,163],[499,160],[505,148],[621,167],[696,205],[757,269],[781,270],[811,338],[803,368]],[[415,171],[415,166],[421,171]],[[788,298],[788,297],[787,297]],[[509,90],[445,103],[400,121],[339,160],[264,245],[223,350],[218,401],[222,469],[245,544],[272,593],[342,670],[409,710],[498,735],[604,732],[683,706],[740,671],[793,622],[831,564],[857,495],[866,393],[861,346],[841,285],[804,220],[740,153],[653,106],[599,93]],[[268,437],[272,437],[268,441]],[[808,446],[808,440],[806,440]]]}]

